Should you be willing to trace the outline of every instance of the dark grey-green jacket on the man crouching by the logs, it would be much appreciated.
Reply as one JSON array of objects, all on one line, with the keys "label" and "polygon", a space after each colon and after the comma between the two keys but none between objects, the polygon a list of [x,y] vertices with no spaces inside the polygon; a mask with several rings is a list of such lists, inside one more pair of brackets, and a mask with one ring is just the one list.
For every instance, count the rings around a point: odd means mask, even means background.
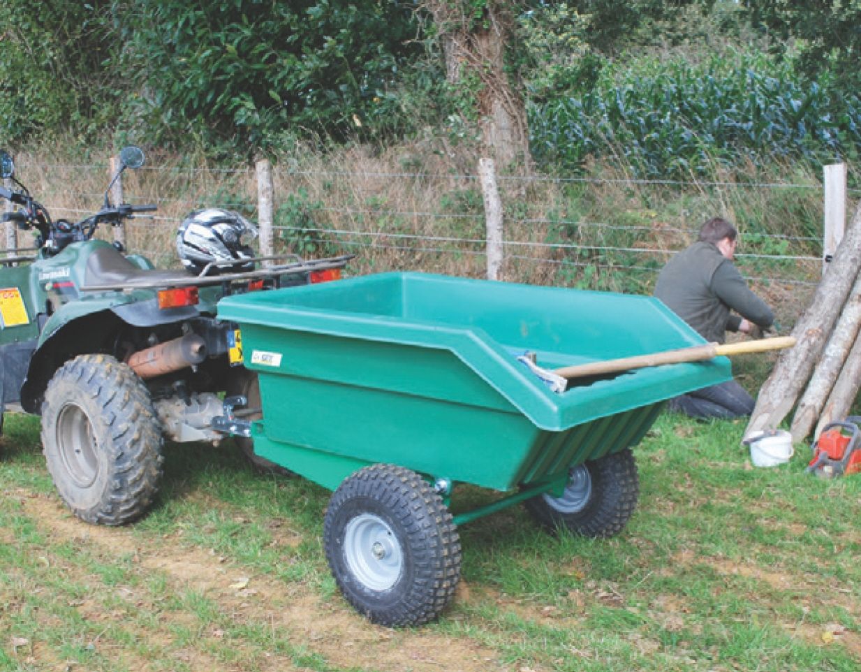
[{"label": "dark grey-green jacket on the man crouching by the logs", "polygon": [[726,332],[738,331],[741,317],[764,329],[774,322],[771,308],[747,288],[733,262],[703,241],[667,262],[654,296],[709,343],[723,343]]}]

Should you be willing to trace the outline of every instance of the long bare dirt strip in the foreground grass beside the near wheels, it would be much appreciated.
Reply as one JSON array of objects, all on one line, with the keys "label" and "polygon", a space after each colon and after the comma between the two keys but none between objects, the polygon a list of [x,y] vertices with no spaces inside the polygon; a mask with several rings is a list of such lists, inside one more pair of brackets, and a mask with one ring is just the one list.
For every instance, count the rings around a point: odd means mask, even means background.
[{"label": "long bare dirt strip in the foreground grass beside the near wheels", "polygon": [[[53,533],[97,552],[131,555],[147,571],[167,576],[174,591],[192,588],[215,600],[221,613],[238,625],[257,623],[286,632],[291,644],[323,656],[338,667],[379,670],[517,669],[505,666],[496,652],[468,638],[451,638],[430,630],[401,631],[369,623],[340,596],[324,601],[302,584],[269,576],[249,576],[247,568],[174,539],[145,539],[128,528],[88,526],[55,499],[23,500],[25,511]],[[164,613],[164,618],[173,618]],[[273,669],[288,661],[273,659]]]}]

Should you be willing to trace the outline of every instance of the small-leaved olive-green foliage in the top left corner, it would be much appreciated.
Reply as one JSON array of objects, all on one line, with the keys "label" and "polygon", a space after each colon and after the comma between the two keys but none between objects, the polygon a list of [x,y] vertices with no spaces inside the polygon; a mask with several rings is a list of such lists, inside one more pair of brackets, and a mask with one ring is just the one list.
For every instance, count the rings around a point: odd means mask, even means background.
[{"label": "small-leaved olive-green foliage in the top left corner", "polygon": [[114,54],[108,0],[3,3],[0,136],[102,130],[121,103],[123,80],[106,69]]}]

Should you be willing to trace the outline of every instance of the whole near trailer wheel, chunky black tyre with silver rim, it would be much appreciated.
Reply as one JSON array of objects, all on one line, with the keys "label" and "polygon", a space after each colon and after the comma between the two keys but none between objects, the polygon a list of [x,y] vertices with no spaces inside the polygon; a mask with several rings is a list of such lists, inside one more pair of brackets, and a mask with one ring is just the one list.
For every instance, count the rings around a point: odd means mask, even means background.
[{"label": "whole near trailer wheel, chunky black tyre with silver rim", "polygon": [[431,485],[392,464],[356,471],[325,513],[326,559],[356,610],[381,625],[437,618],[461,576],[461,543]]}]

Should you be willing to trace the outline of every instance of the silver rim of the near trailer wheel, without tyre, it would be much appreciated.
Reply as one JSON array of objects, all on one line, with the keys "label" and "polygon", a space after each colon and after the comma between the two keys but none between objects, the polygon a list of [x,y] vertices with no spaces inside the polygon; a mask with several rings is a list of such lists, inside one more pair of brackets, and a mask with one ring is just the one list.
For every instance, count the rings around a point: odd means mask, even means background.
[{"label": "silver rim of the near trailer wheel, without tyre", "polygon": [[353,576],[372,590],[392,588],[404,566],[392,528],[373,513],[362,513],[347,523],[344,558]]}]

